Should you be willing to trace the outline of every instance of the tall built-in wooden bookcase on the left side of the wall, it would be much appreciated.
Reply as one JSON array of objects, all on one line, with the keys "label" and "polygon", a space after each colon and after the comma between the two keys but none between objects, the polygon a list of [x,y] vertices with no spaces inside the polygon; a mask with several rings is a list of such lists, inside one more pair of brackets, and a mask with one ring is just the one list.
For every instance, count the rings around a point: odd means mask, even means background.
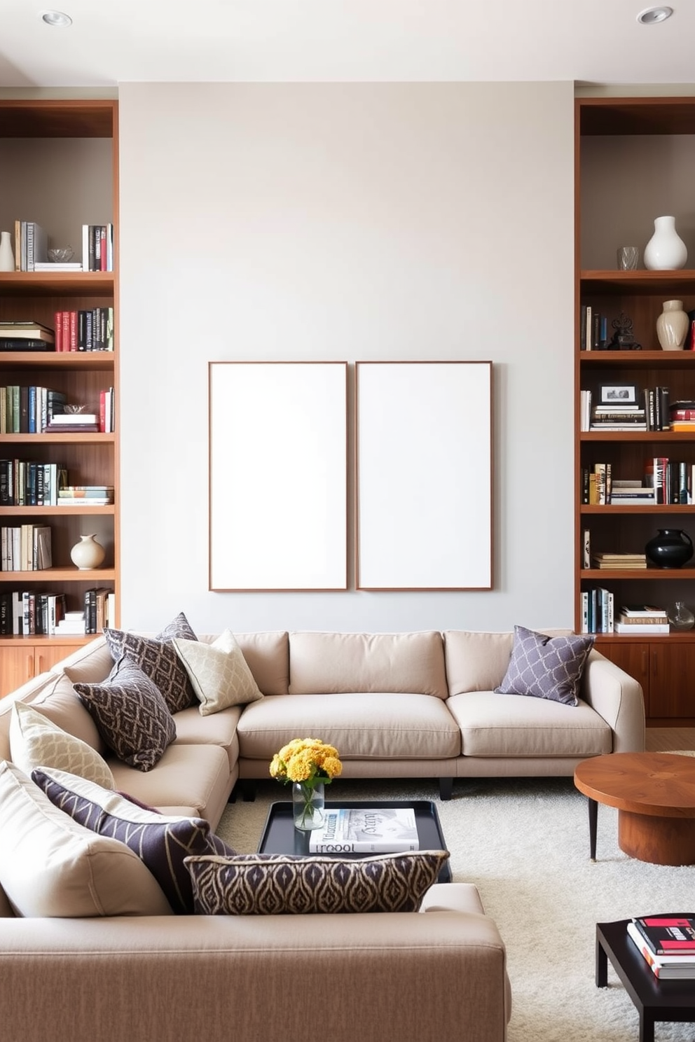
[{"label": "tall built-in wooden bookcase on the left side of the wall", "polygon": [[[61,141],[56,142],[56,139]],[[57,149],[57,152],[56,152]],[[55,159],[60,159],[60,191],[54,191]],[[26,160],[32,169],[32,195],[27,202]],[[100,392],[115,389],[119,403],[118,321],[118,102],[111,99],[0,99],[0,163],[5,171],[0,215],[2,226],[31,219],[48,233],[48,245],[80,247],[82,225],[100,221],[114,225],[114,271],[0,272],[0,321],[35,321],[55,327],[57,312],[114,308],[113,351],[0,351],[0,386],[41,386],[60,391],[71,403],[98,412]],[[93,216],[94,215],[94,216]],[[15,245],[15,244],[13,244]],[[76,259],[80,259],[79,251]],[[115,433],[66,431],[0,435],[0,456],[25,463],[57,464],[73,485],[104,485],[118,490],[119,424]],[[69,611],[84,607],[96,587],[116,595],[119,624],[120,519],[116,503],[80,502],[74,506],[1,505],[0,523],[7,528],[48,525],[53,567],[36,571],[0,572],[0,697],[34,673],[93,639],[93,635],[53,636],[6,631],[8,598],[17,592],[64,594]],[[88,526],[89,525],[89,526]],[[94,531],[106,550],[105,568],[80,571],[70,559],[82,532]],[[4,609],[3,609],[4,605]],[[0,621],[2,615],[0,614]],[[10,604],[9,624],[13,623]]]}]

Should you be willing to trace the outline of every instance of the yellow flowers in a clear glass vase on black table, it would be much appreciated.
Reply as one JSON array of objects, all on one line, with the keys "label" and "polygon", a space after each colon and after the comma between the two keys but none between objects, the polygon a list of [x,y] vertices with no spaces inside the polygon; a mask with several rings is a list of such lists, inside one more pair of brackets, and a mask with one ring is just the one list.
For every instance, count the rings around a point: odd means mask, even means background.
[{"label": "yellow flowers in a clear glass vase on black table", "polygon": [[323,824],[324,786],[342,770],[338,749],[318,738],[295,738],[275,753],[270,774],[292,784],[295,828],[308,832]]}]

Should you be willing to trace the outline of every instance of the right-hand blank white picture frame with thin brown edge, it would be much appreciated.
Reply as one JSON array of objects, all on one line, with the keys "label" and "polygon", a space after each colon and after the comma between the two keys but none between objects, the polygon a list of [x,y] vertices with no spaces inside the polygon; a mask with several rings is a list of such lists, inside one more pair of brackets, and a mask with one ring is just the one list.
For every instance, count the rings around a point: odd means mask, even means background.
[{"label": "right-hand blank white picture frame with thin brown edge", "polygon": [[492,363],[355,370],[357,589],[492,589]]}]

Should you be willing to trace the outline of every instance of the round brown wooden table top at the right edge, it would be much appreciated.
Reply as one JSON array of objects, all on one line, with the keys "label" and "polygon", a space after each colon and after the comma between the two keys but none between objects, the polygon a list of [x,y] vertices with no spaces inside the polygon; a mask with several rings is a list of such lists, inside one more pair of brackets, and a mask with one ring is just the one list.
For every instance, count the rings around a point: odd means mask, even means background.
[{"label": "round brown wooden table top at the right edge", "polygon": [[582,760],[574,784],[590,799],[660,818],[695,818],[695,756],[612,752]]}]

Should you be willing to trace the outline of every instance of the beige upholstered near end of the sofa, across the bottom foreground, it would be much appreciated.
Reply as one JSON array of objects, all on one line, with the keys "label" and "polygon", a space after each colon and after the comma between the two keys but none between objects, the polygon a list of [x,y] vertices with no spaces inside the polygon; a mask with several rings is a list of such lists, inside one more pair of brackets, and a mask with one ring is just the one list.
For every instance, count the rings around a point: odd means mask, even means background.
[{"label": "beige upholstered near end of the sofa, across the bottom foreground", "polygon": [[505,952],[491,926],[486,916],[445,911],[5,919],[2,1034],[299,1037],[320,987],[331,1042],[354,1042],[356,1023],[365,1042],[504,1042]]}]

